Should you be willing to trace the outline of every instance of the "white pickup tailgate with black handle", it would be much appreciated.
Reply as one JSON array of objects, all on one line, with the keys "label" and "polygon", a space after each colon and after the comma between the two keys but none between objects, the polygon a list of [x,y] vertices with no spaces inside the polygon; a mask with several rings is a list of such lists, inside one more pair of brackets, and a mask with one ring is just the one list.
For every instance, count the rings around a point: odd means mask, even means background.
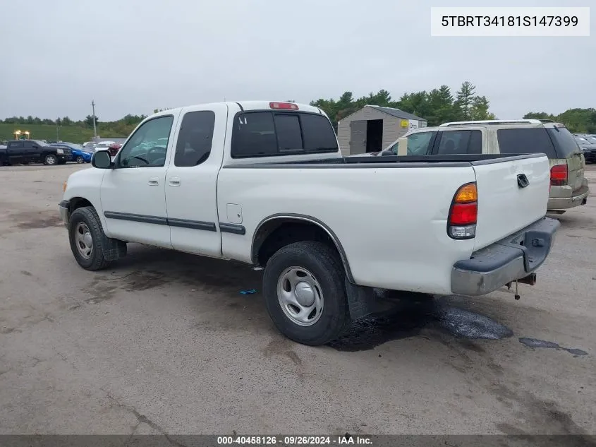
[{"label": "white pickup tailgate with black handle", "polygon": [[475,250],[545,216],[550,185],[546,155],[482,160],[472,165],[478,186]]}]

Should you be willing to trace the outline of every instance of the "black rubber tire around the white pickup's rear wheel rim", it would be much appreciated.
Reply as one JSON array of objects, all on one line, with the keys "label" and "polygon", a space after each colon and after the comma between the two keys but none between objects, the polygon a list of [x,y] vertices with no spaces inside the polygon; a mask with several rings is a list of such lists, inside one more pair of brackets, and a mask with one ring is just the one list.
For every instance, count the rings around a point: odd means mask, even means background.
[{"label": "black rubber tire around the white pickup's rear wheel rim", "polygon": [[[282,309],[277,284],[284,270],[305,268],[315,276],[323,297],[320,318],[312,326],[299,326]],[[321,242],[296,242],[276,251],[264,269],[263,294],[267,312],[287,338],[317,346],[339,338],[351,323],[346,296],[345,271],[336,251]]]}]

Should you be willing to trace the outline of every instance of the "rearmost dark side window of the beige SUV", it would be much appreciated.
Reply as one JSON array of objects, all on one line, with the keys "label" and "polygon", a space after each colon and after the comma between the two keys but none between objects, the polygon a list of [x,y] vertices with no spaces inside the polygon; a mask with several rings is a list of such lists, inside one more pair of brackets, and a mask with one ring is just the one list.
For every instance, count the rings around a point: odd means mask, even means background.
[{"label": "rearmost dark side window of the beige SUV", "polygon": [[499,152],[501,154],[543,153],[549,158],[557,158],[554,145],[547,133],[547,129],[544,127],[499,129],[497,131],[497,141],[499,141]]}]

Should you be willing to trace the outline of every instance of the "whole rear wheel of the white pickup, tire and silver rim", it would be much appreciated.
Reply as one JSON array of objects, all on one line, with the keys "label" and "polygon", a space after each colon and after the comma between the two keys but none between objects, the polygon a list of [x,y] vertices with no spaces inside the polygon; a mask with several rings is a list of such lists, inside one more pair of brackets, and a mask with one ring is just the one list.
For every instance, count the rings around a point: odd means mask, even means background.
[{"label": "whole rear wheel of the white pickup, tire and silver rim", "polygon": [[279,249],[265,267],[263,294],[276,328],[303,345],[335,340],[351,322],[343,265],[321,242]]}]

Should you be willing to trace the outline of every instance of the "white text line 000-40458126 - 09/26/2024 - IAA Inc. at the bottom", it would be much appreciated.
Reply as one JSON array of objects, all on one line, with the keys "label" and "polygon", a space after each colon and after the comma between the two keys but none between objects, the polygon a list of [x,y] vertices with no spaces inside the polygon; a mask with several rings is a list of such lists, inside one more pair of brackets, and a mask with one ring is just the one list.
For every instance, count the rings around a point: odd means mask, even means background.
[{"label": "white text line 000-40458126 - 09/26/2024 - IAA Inc. at the bottom", "polygon": [[218,446],[319,446],[319,445],[372,446],[367,436],[218,436]]}]

